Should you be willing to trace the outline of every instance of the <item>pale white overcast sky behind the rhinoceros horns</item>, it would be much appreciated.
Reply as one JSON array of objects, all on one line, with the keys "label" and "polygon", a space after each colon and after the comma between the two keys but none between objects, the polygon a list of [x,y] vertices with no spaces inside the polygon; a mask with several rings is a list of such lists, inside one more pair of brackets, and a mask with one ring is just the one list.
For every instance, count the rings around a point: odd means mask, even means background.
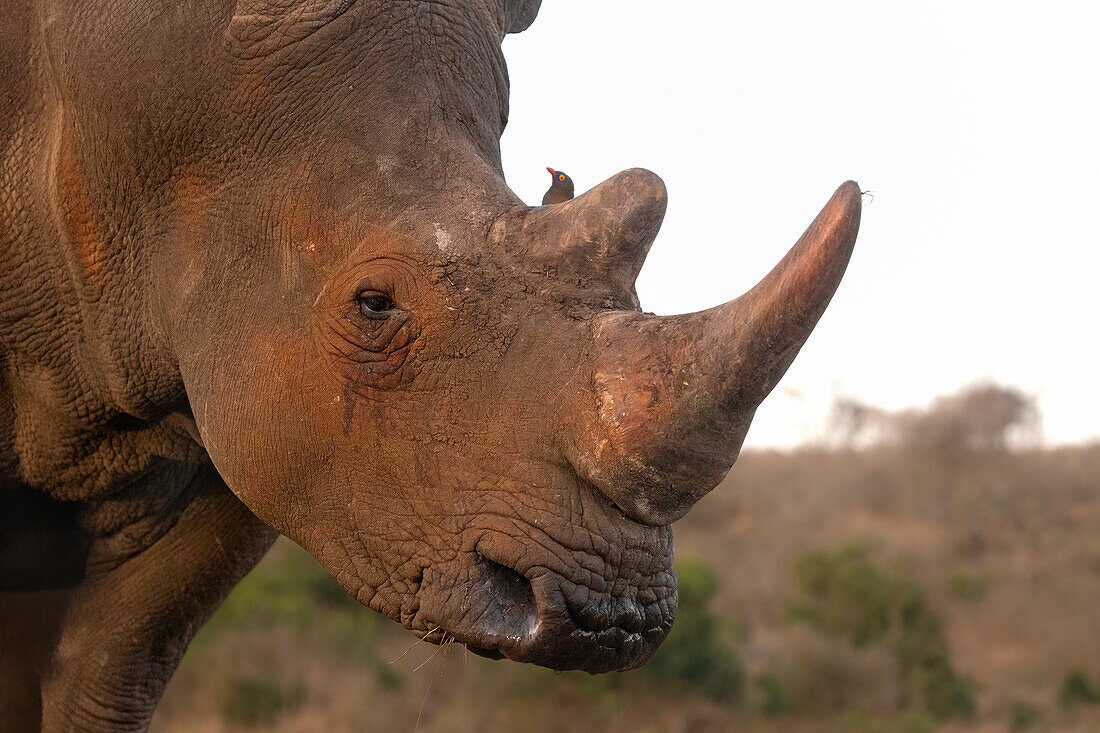
[{"label": "pale white overcast sky behind the rhinoceros horns", "polygon": [[[690,9],[692,12],[689,12]],[[632,166],[669,188],[642,307],[741,294],[848,178],[875,192],[833,304],[748,446],[814,437],[835,393],[1036,394],[1100,438],[1100,2],[544,0],[504,44],[513,189]]]}]

